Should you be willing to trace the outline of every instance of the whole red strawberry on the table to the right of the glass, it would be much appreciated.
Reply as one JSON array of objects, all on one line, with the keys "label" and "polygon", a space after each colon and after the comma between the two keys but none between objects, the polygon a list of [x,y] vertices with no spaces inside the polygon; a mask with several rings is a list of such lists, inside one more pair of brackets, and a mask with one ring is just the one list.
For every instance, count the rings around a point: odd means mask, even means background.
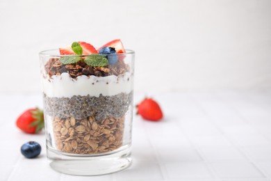
[{"label": "whole red strawberry on the table to the right of the glass", "polygon": [[163,118],[159,104],[151,98],[145,98],[136,107],[138,108],[137,114],[140,114],[145,120],[158,121]]}]

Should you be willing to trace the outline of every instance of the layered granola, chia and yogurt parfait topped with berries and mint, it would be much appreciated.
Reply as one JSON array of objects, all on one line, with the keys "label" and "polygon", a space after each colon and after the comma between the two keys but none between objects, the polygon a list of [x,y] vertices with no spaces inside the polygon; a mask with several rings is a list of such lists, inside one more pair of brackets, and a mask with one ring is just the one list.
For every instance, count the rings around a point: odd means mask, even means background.
[{"label": "layered granola, chia and yogurt parfait topped with berries and mint", "polygon": [[99,49],[86,42],[60,48],[42,68],[44,116],[51,147],[90,155],[123,145],[133,102],[133,70],[120,40]]}]

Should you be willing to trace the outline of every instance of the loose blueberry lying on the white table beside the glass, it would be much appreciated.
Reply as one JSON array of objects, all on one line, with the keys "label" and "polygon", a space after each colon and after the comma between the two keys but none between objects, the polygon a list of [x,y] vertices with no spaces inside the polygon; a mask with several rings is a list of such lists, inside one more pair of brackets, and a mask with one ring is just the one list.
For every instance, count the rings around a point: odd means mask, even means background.
[{"label": "loose blueberry lying on the white table beside the glass", "polygon": [[26,158],[34,158],[38,157],[40,155],[40,152],[42,151],[42,147],[39,143],[35,141],[29,141],[27,143],[24,143],[21,147],[22,155]]}]

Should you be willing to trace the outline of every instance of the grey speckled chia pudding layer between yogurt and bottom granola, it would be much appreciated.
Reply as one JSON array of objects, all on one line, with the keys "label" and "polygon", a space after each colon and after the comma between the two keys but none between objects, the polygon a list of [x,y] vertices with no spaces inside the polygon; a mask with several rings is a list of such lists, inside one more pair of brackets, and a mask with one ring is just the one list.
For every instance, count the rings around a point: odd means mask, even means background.
[{"label": "grey speckled chia pudding layer between yogurt and bottom granola", "polygon": [[108,117],[121,118],[132,104],[133,91],[131,93],[119,93],[112,96],[99,95],[72,97],[47,97],[43,94],[44,111],[53,118],[83,119],[95,116],[96,120],[104,120]]}]

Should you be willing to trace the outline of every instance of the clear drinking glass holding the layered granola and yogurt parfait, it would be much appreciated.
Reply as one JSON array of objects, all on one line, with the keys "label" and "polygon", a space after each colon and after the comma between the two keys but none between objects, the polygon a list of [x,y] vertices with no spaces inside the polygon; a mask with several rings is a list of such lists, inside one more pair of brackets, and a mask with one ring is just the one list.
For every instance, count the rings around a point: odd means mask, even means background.
[{"label": "clear drinking glass holding the layered granola and yogurt parfait", "polygon": [[60,173],[101,175],[131,164],[135,53],[106,55],[117,63],[103,67],[85,63],[94,56],[40,52],[47,158]]}]

